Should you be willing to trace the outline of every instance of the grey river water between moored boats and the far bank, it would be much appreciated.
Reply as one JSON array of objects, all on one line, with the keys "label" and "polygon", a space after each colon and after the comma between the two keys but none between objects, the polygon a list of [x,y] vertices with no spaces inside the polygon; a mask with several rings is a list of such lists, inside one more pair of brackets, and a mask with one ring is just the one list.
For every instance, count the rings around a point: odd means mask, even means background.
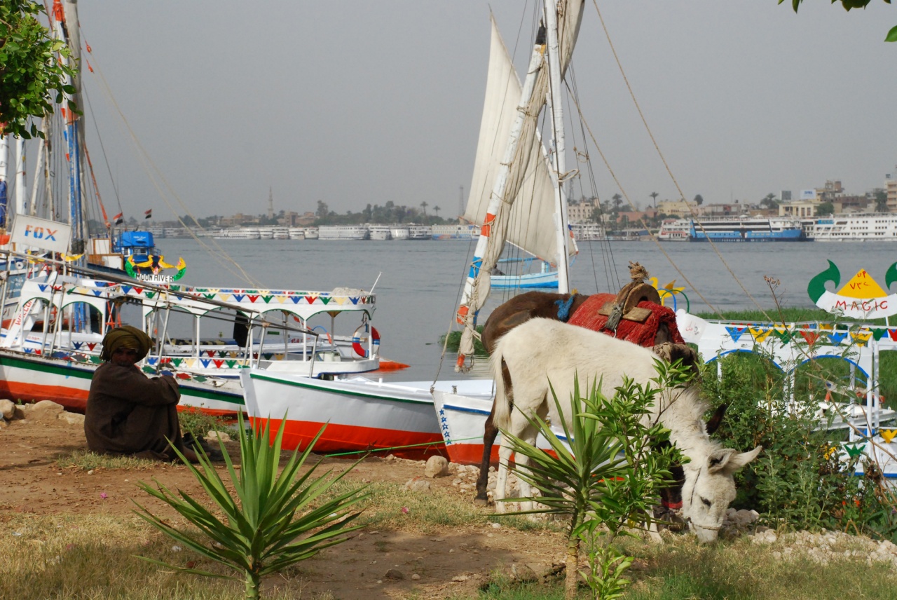
[{"label": "grey river water between moored boats and the far bank", "polygon": [[[187,273],[179,283],[330,291],[336,287],[370,290],[377,282],[373,324],[382,338],[380,355],[411,365],[385,377],[404,380],[432,380],[437,374],[443,379],[458,377],[453,370],[454,355],[441,361],[440,367],[439,339],[451,326],[472,256],[472,243],[458,240],[203,241],[206,245],[217,242],[223,253],[255,283],[239,274],[236,266],[218,249],[210,252],[193,239],[157,239],[167,262],[175,264],[178,257],[187,261]],[[779,281],[775,285],[779,304],[811,307],[807,283],[827,268],[827,260],[840,269],[840,285],[860,269],[866,269],[883,288],[885,271],[897,262],[897,242],[743,243],[718,244],[717,249],[719,254],[710,244],[674,242],[658,248],[644,241],[614,242],[610,247],[601,242],[580,242],[579,256],[570,267],[571,287],[581,293],[615,292],[621,283],[629,281],[629,262],[638,261],[661,285],[673,280],[676,286],[685,285],[684,293],[692,312],[709,311],[710,307],[754,309],[756,304],[771,309],[776,300],[766,277]],[[488,316],[509,295],[508,291],[494,291],[483,316]],[[684,308],[684,299],[679,302],[679,307]],[[486,361],[477,361],[474,374],[483,375],[485,367]]]}]

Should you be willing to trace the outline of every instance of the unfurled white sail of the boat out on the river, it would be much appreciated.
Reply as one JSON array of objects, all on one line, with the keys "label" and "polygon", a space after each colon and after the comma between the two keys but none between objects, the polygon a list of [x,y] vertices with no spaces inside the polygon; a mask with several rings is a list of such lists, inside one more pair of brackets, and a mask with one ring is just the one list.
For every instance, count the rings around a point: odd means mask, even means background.
[{"label": "unfurled white sail of the boat out on the river", "polygon": [[[501,157],[508,145],[511,126],[518,116],[520,93],[517,72],[493,18],[483,118],[476,146],[474,176],[464,213],[468,222],[483,225],[495,179],[501,168]],[[525,161],[526,172],[518,174],[514,167],[509,172],[509,178],[519,178],[521,185],[511,205],[506,241],[554,263],[558,254],[553,225],[557,202],[538,137],[530,144],[529,152]]]}]

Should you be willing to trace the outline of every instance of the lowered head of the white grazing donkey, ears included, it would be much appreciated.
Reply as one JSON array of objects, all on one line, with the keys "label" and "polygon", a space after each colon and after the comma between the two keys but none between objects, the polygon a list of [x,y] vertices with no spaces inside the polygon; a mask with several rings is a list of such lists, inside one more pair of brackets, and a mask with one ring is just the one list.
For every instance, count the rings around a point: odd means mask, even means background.
[{"label": "lowered head of the white grazing donkey, ears included", "polygon": [[762,446],[750,452],[718,448],[709,456],[694,457],[684,466],[682,513],[701,542],[717,539],[728,505],[735,500],[733,475],[760,454]]}]

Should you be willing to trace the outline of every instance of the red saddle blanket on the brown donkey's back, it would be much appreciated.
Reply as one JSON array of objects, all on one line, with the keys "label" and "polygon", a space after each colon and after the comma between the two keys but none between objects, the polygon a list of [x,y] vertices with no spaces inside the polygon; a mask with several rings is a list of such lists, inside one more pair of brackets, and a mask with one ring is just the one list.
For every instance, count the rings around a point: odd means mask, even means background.
[{"label": "red saddle blanket on the brown donkey's back", "polygon": [[594,294],[588,297],[588,300],[582,303],[579,309],[573,313],[567,322],[570,325],[586,327],[592,331],[600,331],[603,334],[613,335],[618,340],[626,340],[631,343],[638,343],[640,346],[651,348],[654,346],[654,338],[658,335],[658,327],[663,324],[670,332],[670,341],[673,343],[685,343],[682,335],[679,335],[679,329],[675,325],[675,312],[665,306],[642,300],[639,302],[640,309],[649,309],[650,316],[645,319],[644,323],[636,323],[635,321],[627,321],[625,318],[620,319],[620,325],[617,326],[616,334],[610,329],[605,329],[607,317],[599,315],[598,310],[607,302],[614,303],[615,294]]}]

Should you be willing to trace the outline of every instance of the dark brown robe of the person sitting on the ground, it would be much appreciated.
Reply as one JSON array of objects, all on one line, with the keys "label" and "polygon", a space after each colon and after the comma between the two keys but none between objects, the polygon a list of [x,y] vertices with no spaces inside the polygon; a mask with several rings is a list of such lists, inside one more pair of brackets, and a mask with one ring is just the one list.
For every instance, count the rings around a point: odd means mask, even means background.
[{"label": "dark brown robe of the person sitting on the ground", "polygon": [[183,451],[180,391],[170,376],[148,378],[137,367],[105,362],[93,374],[84,414],[87,447],[100,454],[175,460]]}]

